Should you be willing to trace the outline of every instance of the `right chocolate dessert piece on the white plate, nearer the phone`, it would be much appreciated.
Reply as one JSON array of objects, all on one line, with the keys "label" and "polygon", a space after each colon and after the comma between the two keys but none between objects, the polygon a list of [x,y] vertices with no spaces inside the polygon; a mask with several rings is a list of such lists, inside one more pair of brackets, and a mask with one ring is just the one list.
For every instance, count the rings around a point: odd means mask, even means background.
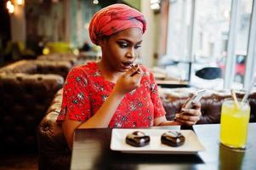
[{"label": "right chocolate dessert piece on the white plate, nearer the phone", "polygon": [[185,137],[177,131],[168,131],[167,133],[162,134],[161,142],[162,144],[178,147],[184,144]]}]

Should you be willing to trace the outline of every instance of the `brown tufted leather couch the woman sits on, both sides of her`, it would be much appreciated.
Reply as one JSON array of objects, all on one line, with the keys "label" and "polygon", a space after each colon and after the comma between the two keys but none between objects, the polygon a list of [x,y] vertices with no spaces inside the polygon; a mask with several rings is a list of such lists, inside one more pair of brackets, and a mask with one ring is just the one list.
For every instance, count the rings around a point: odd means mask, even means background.
[{"label": "brown tufted leather couch the woman sits on, both sides of her", "polygon": [[[167,111],[168,120],[174,119],[181,105],[192,95],[195,89],[177,88],[171,92],[161,93],[162,103]],[[242,98],[242,93],[237,94]],[[202,117],[198,123],[219,123],[220,107],[224,99],[230,98],[229,92],[208,91],[201,100]],[[65,143],[60,123],[56,118],[60,113],[62,101],[62,89],[55,95],[52,105],[37,128],[37,140],[39,148],[39,169],[69,169],[71,163],[71,150]],[[249,96],[251,110],[250,122],[256,122],[256,93]]]}]

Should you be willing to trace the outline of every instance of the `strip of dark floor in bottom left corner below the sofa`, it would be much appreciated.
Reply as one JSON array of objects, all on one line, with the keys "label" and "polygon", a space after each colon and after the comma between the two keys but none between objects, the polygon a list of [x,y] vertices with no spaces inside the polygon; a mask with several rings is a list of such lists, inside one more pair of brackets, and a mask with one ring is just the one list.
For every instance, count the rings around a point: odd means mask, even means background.
[{"label": "strip of dark floor in bottom left corner below the sofa", "polygon": [[37,170],[37,154],[1,154],[0,170]]}]

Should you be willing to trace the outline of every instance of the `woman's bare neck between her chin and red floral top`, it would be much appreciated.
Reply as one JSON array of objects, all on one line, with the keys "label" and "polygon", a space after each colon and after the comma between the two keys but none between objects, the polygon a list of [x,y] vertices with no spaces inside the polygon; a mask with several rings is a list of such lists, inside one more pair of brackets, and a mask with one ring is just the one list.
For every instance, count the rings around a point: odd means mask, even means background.
[{"label": "woman's bare neck between her chin and red floral top", "polygon": [[122,72],[113,71],[102,59],[96,62],[96,64],[100,69],[101,75],[109,82],[117,82],[117,79],[122,75]]}]

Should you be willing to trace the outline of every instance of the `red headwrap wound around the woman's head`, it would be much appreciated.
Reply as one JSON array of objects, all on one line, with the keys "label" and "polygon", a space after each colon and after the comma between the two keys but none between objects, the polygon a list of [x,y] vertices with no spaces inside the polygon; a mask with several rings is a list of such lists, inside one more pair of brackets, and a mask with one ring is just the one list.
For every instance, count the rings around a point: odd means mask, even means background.
[{"label": "red headwrap wound around the woman's head", "polygon": [[98,41],[102,37],[111,36],[128,28],[139,28],[144,33],[146,30],[144,15],[127,5],[113,4],[94,14],[89,26],[89,36],[94,44],[99,45]]}]

